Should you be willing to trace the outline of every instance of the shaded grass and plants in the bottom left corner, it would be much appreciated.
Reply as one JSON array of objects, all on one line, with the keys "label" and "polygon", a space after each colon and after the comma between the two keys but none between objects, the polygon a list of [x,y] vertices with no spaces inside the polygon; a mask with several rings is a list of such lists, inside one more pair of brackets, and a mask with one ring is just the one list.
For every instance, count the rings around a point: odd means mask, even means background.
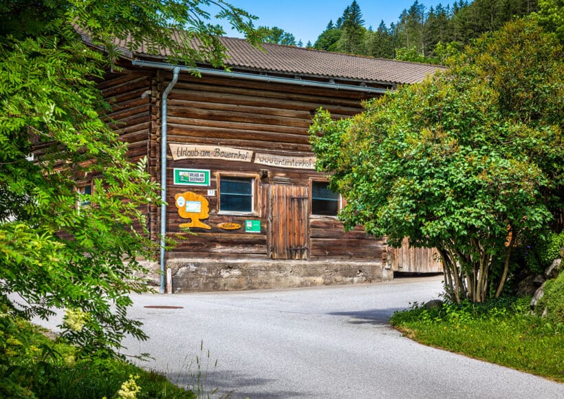
[{"label": "shaded grass and plants in the bottom left corner", "polygon": [[[0,340],[0,397],[196,397],[193,391],[173,385],[162,374],[145,371],[120,359],[76,360],[76,349],[72,345],[47,338],[44,330],[26,321],[15,320],[13,325],[20,329],[20,336],[25,337],[25,340]],[[6,330],[2,334],[6,338]],[[127,381],[129,385],[124,385]],[[135,396],[131,396],[131,392],[136,390]]]}]

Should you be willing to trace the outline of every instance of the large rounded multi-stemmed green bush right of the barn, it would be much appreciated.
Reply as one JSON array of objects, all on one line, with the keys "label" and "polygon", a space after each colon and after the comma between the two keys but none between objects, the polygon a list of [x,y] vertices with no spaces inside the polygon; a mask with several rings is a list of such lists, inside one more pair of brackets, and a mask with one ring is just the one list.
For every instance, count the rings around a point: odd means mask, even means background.
[{"label": "large rounded multi-stemmed green bush right of the barn", "polygon": [[312,147],[347,199],[345,228],[437,248],[455,301],[501,295],[517,241],[564,207],[563,59],[519,20],[354,118],[318,112]]}]

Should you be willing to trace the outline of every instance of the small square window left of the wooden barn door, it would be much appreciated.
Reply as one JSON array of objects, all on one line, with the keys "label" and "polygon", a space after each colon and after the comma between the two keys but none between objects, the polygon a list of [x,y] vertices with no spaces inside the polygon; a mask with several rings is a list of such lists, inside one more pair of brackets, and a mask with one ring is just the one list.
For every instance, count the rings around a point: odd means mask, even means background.
[{"label": "small square window left of the wooden barn door", "polygon": [[219,177],[219,211],[252,212],[252,177]]}]

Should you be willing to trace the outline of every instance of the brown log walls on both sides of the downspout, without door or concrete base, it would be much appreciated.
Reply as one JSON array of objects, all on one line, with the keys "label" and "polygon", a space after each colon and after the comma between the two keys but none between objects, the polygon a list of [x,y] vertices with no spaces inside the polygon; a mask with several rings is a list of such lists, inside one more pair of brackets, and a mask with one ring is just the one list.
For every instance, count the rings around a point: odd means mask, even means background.
[{"label": "brown log walls on both sides of the downspout, without door or concrete base", "polygon": [[[152,74],[152,75],[151,75]],[[160,96],[171,80],[171,74],[149,69],[129,71],[102,83],[105,96],[113,98],[111,116],[122,123],[122,139],[129,142],[131,158],[149,154],[149,169],[160,180]],[[148,96],[143,96],[144,93]],[[362,111],[360,92],[259,83],[235,78],[204,76],[195,78],[180,74],[168,101],[168,142],[217,145],[251,149],[277,155],[311,156],[308,129],[312,113],[318,107],[332,112],[335,118],[346,118]],[[181,240],[169,257],[221,257],[270,259],[268,248],[268,189],[272,177],[284,177],[296,186],[310,185],[310,178],[320,177],[310,170],[284,169],[251,162],[176,160],[169,151],[167,160],[167,232],[186,238]],[[210,169],[210,186],[175,186],[173,168]],[[259,179],[259,170],[268,170],[268,177]],[[255,215],[219,215],[217,196],[218,173],[248,173],[257,176]],[[202,222],[210,230],[193,229],[196,235],[182,232],[181,219],[174,206],[174,195],[193,191],[209,201],[210,216]],[[151,236],[158,237],[159,209],[149,212]],[[246,219],[261,221],[260,233],[245,233]],[[221,230],[220,223],[237,223],[239,230]],[[373,259],[385,257],[381,239],[368,237],[361,228],[344,233],[332,217],[310,216],[309,259]]]}]

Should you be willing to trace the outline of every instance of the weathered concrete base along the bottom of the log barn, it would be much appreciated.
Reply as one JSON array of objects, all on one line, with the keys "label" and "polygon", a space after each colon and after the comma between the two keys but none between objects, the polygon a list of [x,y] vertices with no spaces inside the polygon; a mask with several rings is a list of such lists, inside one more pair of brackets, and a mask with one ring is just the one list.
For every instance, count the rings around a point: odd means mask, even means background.
[{"label": "weathered concrete base along the bottom of the log barn", "polygon": [[[393,271],[378,262],[169,259],[167,268],[172,272],[173,292],[263,290],[393,279]],[[160,277],[153,279],[160,283]]]}]

